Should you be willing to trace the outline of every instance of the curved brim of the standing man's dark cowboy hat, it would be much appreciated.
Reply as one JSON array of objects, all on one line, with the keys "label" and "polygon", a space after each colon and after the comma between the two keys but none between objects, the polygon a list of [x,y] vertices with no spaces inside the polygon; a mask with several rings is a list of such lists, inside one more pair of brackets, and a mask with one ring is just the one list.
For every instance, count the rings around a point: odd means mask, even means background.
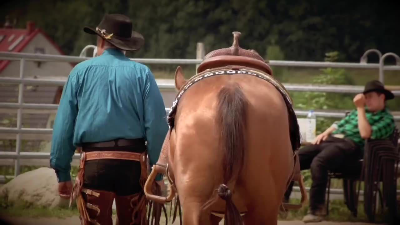
[{"label": "curved brim of the standing man's dark cowboy hat", "polygon": [[136,32],[134,30],[132,30],[131,38],[128,38],[128,39],[125,39],[125,38],[120,39],[116,36],[112,36],[110,39],[106,39],[100,32],[97,32],[95,29],[87,27],[87,26],[85,26],[83,28],[83,30],[84,30],[84,32],[86,32],[88,34],[97,34],[98,36],[100,36],[101,38],[103,38],[104,40],[109,42],[110,44],[116,46],[119,49],[126,50],[126,51],[139,50],[144,44],[144,37],[142,36],[142,34]]}]

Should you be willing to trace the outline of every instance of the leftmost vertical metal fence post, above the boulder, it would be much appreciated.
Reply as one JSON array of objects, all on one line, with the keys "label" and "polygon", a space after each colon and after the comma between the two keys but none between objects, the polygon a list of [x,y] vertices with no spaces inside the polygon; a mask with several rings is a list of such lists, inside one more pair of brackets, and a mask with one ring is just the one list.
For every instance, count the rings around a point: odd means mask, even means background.
[{"label": "leftmost vertical metal fence post, above the boulder", "polygon": [[20,79],[21,82],[18,85],[18,111],[17,111],[17,129],[18,134],[16,137],[15,151],[16,151],[16,159],[15,159],[15,168],[14,168],[14,177],[20,174],[20,152],[21,152],[21,128],[22,128],[22,104],[24,103],[24,68],[25,68],[25,59],[21,58],[20,60]]}]

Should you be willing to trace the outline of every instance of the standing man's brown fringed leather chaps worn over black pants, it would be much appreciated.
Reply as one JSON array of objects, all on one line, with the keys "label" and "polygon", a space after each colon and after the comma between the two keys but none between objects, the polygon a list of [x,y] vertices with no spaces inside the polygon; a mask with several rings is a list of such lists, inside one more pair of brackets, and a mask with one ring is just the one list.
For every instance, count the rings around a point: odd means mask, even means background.
[{"label": "standing man's brown fringed leather chaps worn over black pants", "polygon": [[76,198],[81,225],[112,225],[114,199],[117,225],[146,225],[146,159],[146,151],[81,152],[70,199]]}]

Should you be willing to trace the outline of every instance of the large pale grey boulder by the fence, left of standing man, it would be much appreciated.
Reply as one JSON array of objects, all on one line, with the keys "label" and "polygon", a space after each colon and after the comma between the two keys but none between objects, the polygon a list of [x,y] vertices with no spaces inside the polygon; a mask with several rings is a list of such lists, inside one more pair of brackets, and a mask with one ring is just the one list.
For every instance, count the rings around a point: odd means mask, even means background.
[{"label": "large pale grey boulder by the fence, left of standing man", "polygon": [[31,203],[44,207],[68,207],[69,200],[58,196],[58,183],[53,169],[42,167],[22,173],[0,187],[0,196],[9,203]]}]

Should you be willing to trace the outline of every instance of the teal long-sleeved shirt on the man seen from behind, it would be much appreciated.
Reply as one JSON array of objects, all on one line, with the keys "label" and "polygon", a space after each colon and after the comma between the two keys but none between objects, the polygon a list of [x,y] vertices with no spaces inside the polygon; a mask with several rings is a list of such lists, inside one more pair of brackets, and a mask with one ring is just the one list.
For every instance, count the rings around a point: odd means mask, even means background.
[{"label": "teal long-sleeved shirt on the man seen from behind", "polygon": [[69,181],[72,155],[81,143],[137,138],[147,141],[152,166],[167,131],[165,105],[150,69],[107,49],[68,76],[54,121],[50,166],[59,182]]}]

